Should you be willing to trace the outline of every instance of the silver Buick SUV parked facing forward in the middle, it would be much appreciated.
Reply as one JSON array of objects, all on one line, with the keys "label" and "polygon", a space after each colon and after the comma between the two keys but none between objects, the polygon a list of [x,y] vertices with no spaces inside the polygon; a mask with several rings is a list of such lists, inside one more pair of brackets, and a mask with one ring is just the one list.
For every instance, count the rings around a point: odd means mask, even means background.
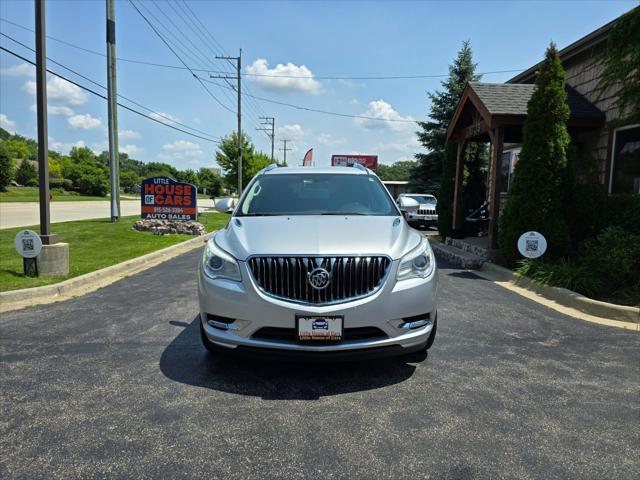
[{"label": "silver Buick SUV parked facing forward in the middle", "polygon": [[207,243],[201,337],[211,352],[269,356],[426,350],[436,334],[437,284],[429,243],[373,172],[273,165]]}]

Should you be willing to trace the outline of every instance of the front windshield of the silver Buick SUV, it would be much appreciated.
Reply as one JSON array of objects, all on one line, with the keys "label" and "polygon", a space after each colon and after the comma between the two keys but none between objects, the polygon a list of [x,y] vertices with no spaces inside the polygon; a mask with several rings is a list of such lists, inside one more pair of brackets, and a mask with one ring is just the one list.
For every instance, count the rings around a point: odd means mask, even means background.
[{"label": "front windshield of the silver Buick SUV", "polygon": [[398,211],[373,175],[287,173],[258,177],[238,215],[395,216]]}]

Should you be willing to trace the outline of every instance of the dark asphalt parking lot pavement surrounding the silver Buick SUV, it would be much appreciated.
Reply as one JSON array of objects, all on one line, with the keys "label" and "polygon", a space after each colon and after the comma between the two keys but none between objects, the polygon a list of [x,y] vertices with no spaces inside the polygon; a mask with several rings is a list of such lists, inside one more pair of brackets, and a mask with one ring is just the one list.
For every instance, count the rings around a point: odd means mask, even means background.
[{"label": "dark asphalt parking lot pavement surrounding the silver Buick SUV", "polygon": [[638,478],[636,332],[444,267],[426,359],[211,359],[198,256],[2,315],[2,478]]}]

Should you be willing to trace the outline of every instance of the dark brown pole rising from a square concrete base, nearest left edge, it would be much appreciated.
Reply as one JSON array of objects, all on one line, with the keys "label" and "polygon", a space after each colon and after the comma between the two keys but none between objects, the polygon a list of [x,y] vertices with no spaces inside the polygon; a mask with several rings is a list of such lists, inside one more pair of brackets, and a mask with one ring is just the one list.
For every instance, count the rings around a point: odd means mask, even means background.
[{"label": "dark brown pole rising from a square concrete base, nearest left edge", "polygon": [[36,108],[38,111],[38,179],[40,180],[40,238],[44,245],[58,242],[51,233],[49,210],[49,137],[47,132],[47,48],[44,0],[36,3]]}]

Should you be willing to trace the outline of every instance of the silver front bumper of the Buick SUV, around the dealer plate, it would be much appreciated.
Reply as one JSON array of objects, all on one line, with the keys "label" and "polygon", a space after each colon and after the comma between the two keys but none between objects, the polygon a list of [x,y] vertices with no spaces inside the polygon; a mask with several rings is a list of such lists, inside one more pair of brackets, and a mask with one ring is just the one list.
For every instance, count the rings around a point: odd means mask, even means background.
[{"label": "silver front bumper of the Buick SUV, around the dealer plate", "polygon": [[[255,284],[247,264],[239,262],[242,282],[211,280],[202,268],[198,274],[200,318],[208,340],[230,350],[263,352],[358,353],[387,350],[409,353],[426,344],[436,318],[437,268],[426,279],[396,282],[394,261],[385,285],[375,294],[337,305],[300,305],[264,294]],[[207,321],[207,314],[233,319],[224,325]],[[343,315],[344,328],[377,327],[384,335],[371,339],[344,340],[326,345],[295,340],[255,338],[263,327],[295,328],[296,315]],[[406,319],[410,319],[411,322]],[[385,352],[386,353],[386,352]]]}]

